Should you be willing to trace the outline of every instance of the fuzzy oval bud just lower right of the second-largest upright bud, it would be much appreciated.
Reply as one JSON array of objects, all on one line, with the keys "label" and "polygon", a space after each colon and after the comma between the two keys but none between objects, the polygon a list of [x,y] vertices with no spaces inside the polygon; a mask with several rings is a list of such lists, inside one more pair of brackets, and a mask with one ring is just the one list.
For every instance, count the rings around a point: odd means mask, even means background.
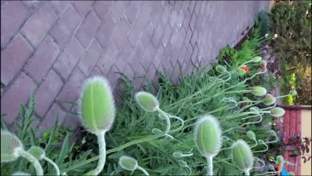
[{"label": "fuzzy oval bud just lower right of the second-largest upright bud", "polygon": [[244,140],[237,140],[232,146],[232,160],[242,171],[249,171],[253,165],[253,156],[250,147]]}]

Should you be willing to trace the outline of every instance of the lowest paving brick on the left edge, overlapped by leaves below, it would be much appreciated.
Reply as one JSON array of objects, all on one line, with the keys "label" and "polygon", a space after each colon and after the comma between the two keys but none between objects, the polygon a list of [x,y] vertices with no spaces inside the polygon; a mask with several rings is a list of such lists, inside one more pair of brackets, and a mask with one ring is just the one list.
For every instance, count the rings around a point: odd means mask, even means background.
[{"label": "lowest paving brick on the left edge, overlapped by leaves below", "polygon": [[1,97],[1,114],[7,114],[4,119],[11,124],[19,113],[19,103],[26,104],[30,93],[36,84],[24,73],[19,75],[9,90]]}]

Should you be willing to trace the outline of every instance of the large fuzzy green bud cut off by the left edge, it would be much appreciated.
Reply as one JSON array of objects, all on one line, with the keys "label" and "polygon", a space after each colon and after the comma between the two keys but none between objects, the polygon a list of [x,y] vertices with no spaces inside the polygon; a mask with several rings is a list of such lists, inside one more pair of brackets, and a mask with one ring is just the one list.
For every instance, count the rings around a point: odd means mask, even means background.
[{"label": "large fuzzy green bud cut off by the left edge", "polygon": [[1,163],[13,162],[19,157],[18,150],[23,150],[23,144],[18,137],[1,130]]}]

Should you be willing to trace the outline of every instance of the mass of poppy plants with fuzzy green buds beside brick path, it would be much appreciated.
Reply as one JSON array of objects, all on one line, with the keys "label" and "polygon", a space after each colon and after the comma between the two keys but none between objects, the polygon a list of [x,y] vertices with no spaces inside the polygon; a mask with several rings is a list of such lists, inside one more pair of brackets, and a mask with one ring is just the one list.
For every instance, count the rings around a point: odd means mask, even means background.
[{"label": "mass of poppy plants with fuzzy green buds beside brick path", "polygon": [[[249,71],[249,63],[258,65],[261,71],[244,76]],[[279,118],[285,113],[276,107],[276,99],[280,97],[267,94],[262,86],[246,84],[266,72],[266,62],[256,56],[237,65],[218,65],[209,72],[206,68],[194,69],[191,75],[181,74],[177,84],[160,74],[155,96],[149,93],[153,86],[150,82],[145,91],[134,93],[131,82],[123,77],[125,91],[120,96],[124,101],[118,108],[105,78],[87,79],[81,91],[78,114],[83,127],[97,138],[99,155],[92,157],[90,150],[82,152],[80,157],[70,157],[73,145],[69,144],[68,133],[59,156],[50,158],[57,120],[45,147],[38,146],[30,125],[25,126],[25,119],[31,124],[34,104],[31,98],[30,114],[25,115],[25,108],[21,110],[19,134],[15,136],[8,128],[2,128],[2,166],[8,162],[26,162],[21,160],[24,158],[33,167],[20,164],[21,167],[10,168],[6,173],[257,174],[256,164],[265,166],[257,155],[267,152],[268,145],[278,142],[279,138],[273,130],[261,136],[246,129],[262,122],[264,115]],[[243,96],[248,94],[258,99]],[[290,91],[285,96],[296,94]],[[260,104],[264,108],[258,106]]]}]

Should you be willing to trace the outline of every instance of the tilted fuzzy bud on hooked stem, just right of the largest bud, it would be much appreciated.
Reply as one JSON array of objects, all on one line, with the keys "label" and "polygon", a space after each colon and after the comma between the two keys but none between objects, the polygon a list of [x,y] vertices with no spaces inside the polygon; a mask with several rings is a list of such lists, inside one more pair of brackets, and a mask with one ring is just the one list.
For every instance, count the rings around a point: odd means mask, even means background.
[{"label": "tilted fuzzy bud on hooked stem, just right of the largest bud", "polygon": [[135,94],[135,100],[141,108],[147,112],[154,112],[159,107],[159,102],[156,97],[148,92],[138,92]]}]

